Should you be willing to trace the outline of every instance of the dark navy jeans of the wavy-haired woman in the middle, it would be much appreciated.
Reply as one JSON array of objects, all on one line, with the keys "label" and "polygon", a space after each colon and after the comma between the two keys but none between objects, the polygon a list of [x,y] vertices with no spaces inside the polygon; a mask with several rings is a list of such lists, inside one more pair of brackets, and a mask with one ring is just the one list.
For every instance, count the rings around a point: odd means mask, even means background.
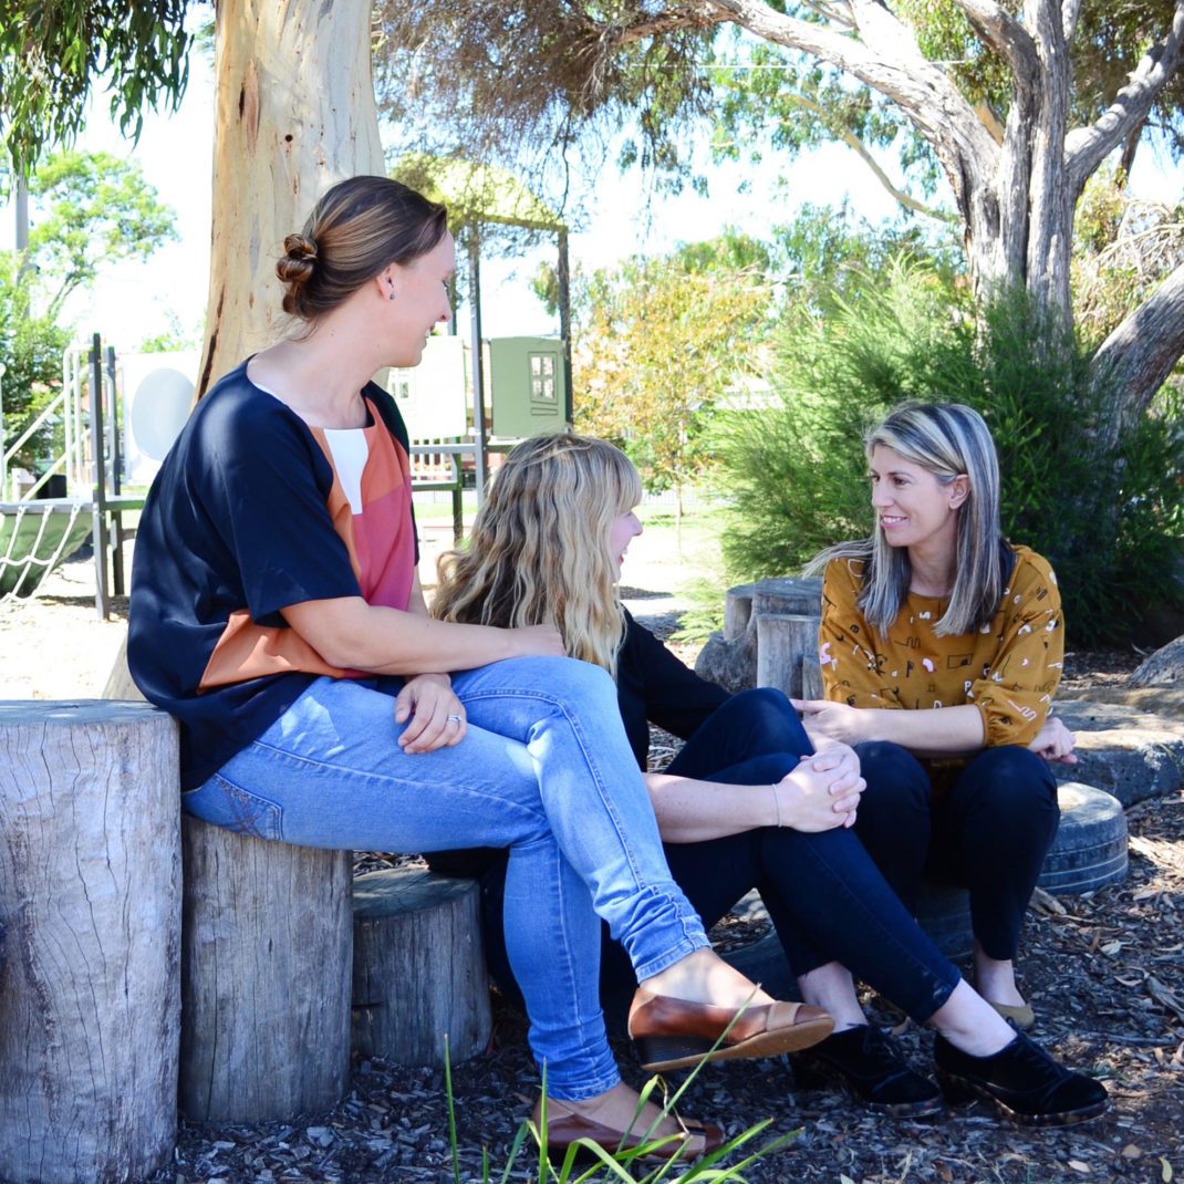
[{"label": "dark navy jeans of the wavy-haired woman in the middle", "polygon": [[[796,768],[810,741],[786,697],[758,688],[733,696],[687,741],[668,772],[765,786]],[[757,888],[794,974],[829,961],[924,1023],[958,985],[945,959],[895,896],[851,830],[817,835],[767,826],[701,843],[667,843],[674,879],[707,926]],[[495,978],[513,979],[501,937],[500,877],[483,881],[485,955]],[[605,931],[601,995],[635,985],[623,951]]]}]

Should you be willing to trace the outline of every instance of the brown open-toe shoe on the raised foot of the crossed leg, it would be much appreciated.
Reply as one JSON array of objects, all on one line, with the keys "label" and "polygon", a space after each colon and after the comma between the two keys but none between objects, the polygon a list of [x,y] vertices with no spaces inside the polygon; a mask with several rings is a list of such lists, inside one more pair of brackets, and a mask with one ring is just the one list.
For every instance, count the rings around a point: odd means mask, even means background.
[{"label": "brown open-toe shoe on the raised foot of the crossed leg", "polygon": [[[688,1069],[702,1060],[779,1056],[825,1040],[835,1021],[805,1003],[764,1003],[745,1008],[689,1003],[638,987],[629,1009],[629,1035],[642,1066],[652,1073]],[[735,1019],[735,1023],[732,1023]],[[725,1029],[722,1042],[713,1050]]]}]

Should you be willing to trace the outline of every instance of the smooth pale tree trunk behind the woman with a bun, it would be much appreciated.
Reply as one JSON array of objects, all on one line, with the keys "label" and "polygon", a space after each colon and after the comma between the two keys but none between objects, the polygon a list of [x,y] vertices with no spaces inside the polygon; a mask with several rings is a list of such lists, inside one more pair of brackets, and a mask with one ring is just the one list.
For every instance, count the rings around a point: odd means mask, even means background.
[{"label": "smooth pale tree trunk behind the woman with a bun", "polygon": [[283,240],[330,185],[384,173],[363,0],[219,0],[213,242],[198,397],[281,329]]}]

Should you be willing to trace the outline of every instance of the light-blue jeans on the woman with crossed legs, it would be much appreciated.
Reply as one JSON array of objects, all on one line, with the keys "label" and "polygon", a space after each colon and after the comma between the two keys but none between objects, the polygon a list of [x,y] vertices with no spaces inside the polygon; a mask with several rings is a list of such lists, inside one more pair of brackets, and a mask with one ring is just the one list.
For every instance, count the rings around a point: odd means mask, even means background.
[{"label": "light-blue jeans on the woman with crossed legs", "polygon": [[509,848],[504,934],[548,1092],[619,1081],[598,995],[603,918],[646,978],[707,945],[675,886],[657,823],[598,667],[519,658],[452,676],[469,731],[407,755],[399,678],[320,678],[205,785],[207,822],[304,847]]}]

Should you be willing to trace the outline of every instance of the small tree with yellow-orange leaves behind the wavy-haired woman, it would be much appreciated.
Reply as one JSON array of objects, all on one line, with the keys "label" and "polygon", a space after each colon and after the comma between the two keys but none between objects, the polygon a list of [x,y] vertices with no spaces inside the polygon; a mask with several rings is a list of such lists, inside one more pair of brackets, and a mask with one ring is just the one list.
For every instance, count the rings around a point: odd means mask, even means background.
[{"label": "small tree with yellow-orange leaves behind the wavy-haired woman", "polygon": [[721,397],[757,365],[773,296],[762,263],[761,244],[731,234],[577,284],[577,427],[620,443],[648,489],[676,491],[680,515]]}]

